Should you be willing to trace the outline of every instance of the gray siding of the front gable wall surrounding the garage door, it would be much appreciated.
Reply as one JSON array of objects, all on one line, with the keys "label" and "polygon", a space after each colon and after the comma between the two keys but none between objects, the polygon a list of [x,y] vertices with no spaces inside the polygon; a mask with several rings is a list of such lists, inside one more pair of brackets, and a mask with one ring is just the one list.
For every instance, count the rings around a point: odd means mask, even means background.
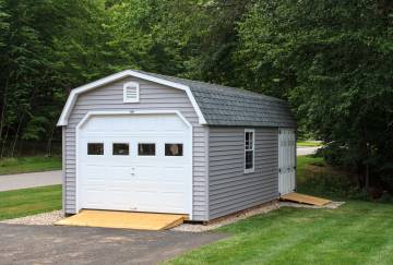
[{"label": "gray siding of the front gable wall surrounding the garage door", "polygon": [[[126,82],[140,83],[140,103],[124,104],[122,85]],[[186,92],[127,77],[79,96],[66,127],[66,213],[75,213],[75,128],[88,111],[133,110],[179,110],[193,127],[193,219],[207,220],[206,194],[206,127],[199,124],[198,116]]]}]

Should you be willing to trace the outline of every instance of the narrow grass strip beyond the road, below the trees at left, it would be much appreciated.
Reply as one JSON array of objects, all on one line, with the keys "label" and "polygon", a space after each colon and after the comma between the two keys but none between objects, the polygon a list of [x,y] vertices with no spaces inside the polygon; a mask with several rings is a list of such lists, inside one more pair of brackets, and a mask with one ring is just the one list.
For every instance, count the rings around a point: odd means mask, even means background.
[{"label": "narrow grass strip beyond the road, below the trees at left", "polygon": [[61,169],[61,157],[20,157],[0,160],[0,174],[39,172]]}]

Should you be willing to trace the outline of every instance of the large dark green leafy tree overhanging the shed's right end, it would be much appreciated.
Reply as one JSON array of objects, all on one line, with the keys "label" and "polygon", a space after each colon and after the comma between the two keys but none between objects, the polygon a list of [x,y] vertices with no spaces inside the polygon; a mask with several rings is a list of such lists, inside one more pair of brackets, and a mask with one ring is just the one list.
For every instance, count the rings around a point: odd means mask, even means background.
[{"label": "large dark green leafy tree overhanging the shed's right end", "polygon": [[392,8],[263,0],[239,25],[245,81],[288,98],[300,124],[330,143],[326,158],[356,170],[361,188],[393,182]]}]

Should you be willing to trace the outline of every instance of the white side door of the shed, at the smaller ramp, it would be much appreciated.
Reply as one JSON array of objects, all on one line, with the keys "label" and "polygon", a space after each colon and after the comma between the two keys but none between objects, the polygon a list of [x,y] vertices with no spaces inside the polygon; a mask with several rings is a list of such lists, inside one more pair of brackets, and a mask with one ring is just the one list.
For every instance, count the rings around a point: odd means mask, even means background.
[{"label": "white side door of the shed, at the smaller ramp", "polygon": [[294,129],[278,130],[278,192],[294,192],[296,188],[296,136]]}]

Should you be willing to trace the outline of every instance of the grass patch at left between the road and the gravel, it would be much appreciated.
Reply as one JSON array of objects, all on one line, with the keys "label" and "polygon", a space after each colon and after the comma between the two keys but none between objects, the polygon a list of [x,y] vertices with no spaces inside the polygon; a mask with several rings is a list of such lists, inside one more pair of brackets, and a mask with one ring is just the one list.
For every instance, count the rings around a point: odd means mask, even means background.
[{"label": "grass patch at left between the road and the gravel", "polygon": [[0,192],[0,220],[61,208],[61,185]]}]

